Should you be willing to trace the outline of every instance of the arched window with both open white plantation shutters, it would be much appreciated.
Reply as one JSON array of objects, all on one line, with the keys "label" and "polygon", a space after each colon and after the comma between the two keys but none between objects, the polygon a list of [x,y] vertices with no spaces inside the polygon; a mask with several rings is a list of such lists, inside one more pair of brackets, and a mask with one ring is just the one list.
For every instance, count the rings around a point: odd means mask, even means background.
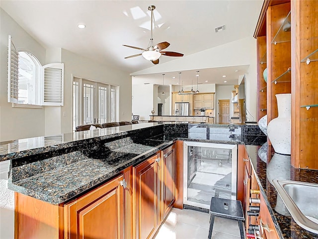
[{"label": "arched window with both open white plantation shutters", "polygon": [[41,66],[8,37],[8,102],[18,106],[63,106],[64,64]]}]

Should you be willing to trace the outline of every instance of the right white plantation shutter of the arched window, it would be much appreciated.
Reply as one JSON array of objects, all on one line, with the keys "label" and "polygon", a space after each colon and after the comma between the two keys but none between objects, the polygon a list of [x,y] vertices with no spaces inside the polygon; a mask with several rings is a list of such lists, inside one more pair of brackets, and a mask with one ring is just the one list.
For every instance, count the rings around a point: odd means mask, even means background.
[{"label": "right white plantation shutter of the arched window", "polygon": [[63,106],[64,64],[52,63],[42,66],[42,105]]}]

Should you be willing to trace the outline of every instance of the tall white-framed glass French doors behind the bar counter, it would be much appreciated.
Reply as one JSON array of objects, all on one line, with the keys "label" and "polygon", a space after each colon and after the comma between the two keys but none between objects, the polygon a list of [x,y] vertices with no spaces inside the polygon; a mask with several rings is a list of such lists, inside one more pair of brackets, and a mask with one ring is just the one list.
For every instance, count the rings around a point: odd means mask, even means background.
[{"label": "tall white-framed glass French doors behind the bar counter", "polygon": [[73,130],[81,124],[114,121],[116,121],[116,86],[74,77]]}]

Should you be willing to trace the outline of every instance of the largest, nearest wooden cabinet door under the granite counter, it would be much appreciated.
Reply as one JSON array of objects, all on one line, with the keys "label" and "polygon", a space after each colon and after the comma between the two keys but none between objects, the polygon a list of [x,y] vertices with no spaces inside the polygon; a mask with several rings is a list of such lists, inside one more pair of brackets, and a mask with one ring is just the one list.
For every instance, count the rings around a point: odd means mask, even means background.
[{"label": "largest, nearest wooden cabinet door under the granite counter", "polygon": [[65,238],[124,238],[123,175],[64,206]]}]

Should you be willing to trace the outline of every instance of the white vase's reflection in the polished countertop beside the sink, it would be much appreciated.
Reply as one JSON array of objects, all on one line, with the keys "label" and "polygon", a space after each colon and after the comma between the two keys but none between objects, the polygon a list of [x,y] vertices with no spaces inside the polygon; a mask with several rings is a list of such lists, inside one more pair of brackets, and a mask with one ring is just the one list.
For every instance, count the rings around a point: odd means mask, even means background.
[{"label": "white vase's reflection in the polished countertop beside the sink", "polygon": [[[273,179],[290,180],[291,179],[291,157],[274,153],[266,168],[266,177],[270,184]],[[275,211],[284,216],[290,216],[282,198],[277,194]]]}]

